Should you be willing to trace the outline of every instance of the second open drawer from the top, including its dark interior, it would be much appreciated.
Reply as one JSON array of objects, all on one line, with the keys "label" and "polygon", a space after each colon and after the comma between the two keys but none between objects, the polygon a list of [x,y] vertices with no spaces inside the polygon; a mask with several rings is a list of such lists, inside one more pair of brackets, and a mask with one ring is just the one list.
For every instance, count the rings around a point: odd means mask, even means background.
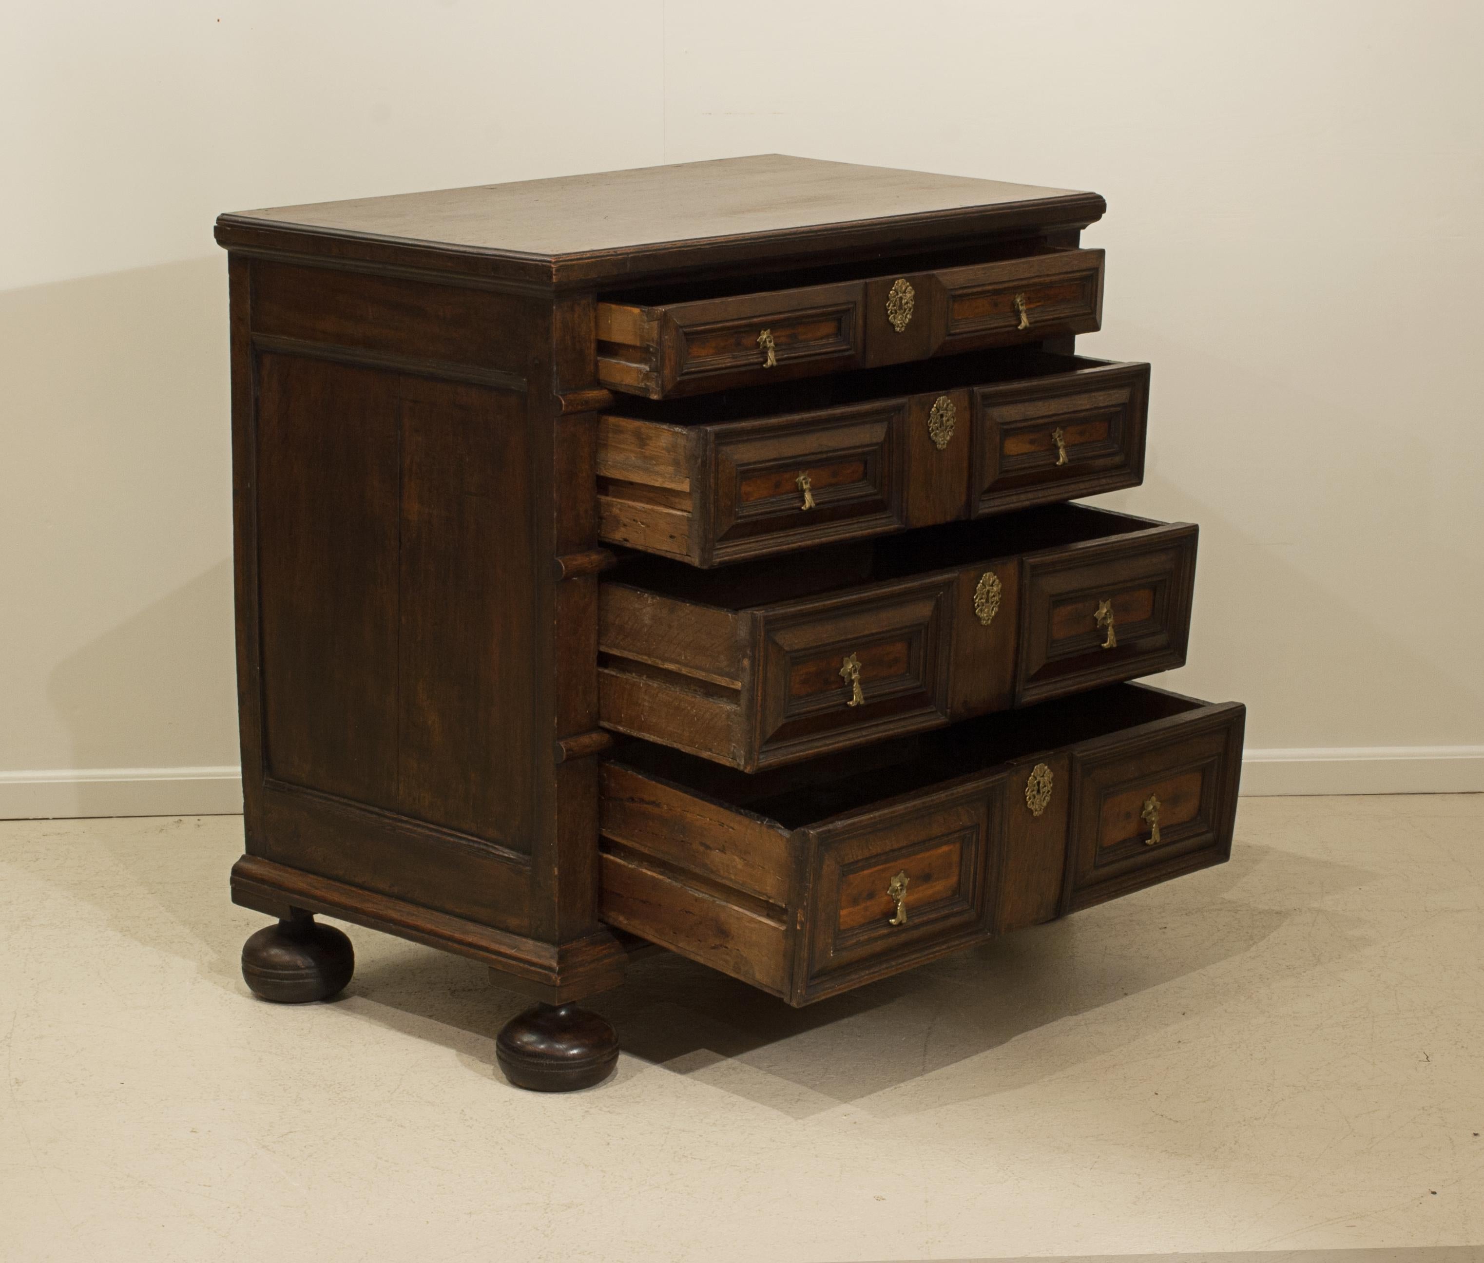
[{"label": "second open drawer from the top, including its dark interior", "polygon": [[1039,350],[625,401],[598,531],[718,565],[1134,487],[1147,410],[1147,364]]}]

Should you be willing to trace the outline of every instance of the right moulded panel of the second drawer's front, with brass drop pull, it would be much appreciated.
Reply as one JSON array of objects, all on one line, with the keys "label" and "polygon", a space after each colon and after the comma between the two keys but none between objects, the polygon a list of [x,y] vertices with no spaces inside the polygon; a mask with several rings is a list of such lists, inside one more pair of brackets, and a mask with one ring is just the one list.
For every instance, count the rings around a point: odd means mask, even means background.
[{"label": "right moulded panel of the second drawer's front, with brass drop pull", "polygon": [[974,516],[1137,487],[1149,365],[979,386],[974,416]]}]

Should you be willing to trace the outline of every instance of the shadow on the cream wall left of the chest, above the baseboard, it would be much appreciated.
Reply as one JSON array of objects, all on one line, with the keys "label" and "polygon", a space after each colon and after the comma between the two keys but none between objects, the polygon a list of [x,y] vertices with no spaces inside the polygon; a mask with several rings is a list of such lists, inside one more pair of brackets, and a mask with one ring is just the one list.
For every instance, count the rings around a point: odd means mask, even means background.
[{"label": "shadow on the cream wall left of the chest, above the baseboard", "polygon": [[0,294],[0,769],[237,763],[227,364],[220,254]]}]

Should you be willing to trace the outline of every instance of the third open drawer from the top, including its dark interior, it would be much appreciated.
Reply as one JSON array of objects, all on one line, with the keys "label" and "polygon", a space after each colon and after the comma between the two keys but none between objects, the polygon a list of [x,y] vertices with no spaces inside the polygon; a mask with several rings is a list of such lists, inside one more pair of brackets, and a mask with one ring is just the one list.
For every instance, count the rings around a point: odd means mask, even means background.
[{"label": "third open drawer from the top, including its dark interior", "polygon": [[1180,666],[1196,528],[1054,505],[600,585],[604,727],[755,772]]}]

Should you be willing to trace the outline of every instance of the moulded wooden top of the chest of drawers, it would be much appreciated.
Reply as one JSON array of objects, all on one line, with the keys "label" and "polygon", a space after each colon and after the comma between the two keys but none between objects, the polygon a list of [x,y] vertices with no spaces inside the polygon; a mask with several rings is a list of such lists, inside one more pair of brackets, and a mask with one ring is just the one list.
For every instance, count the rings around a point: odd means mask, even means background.
[{"label": "moulded wooden top of the chest of drawers", "polygon": [[564,285],[1085,227],[1103,211],[1095,193],[755,154],[243,211],[217,240]]}]

